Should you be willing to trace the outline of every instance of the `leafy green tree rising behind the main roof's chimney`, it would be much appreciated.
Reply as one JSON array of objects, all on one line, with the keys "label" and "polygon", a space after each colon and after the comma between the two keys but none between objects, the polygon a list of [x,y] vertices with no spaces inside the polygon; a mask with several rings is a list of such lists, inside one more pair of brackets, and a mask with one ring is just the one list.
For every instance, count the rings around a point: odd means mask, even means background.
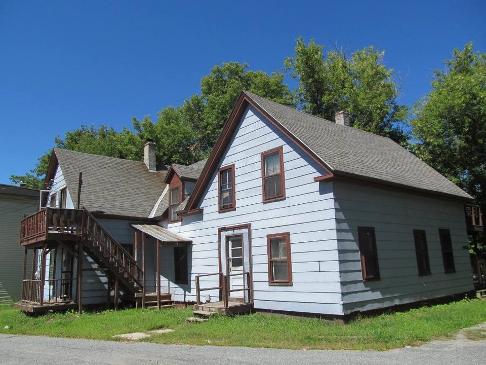
[{"label": "leafy green tree rising behind the main roof's chimney", "polygon": [[305,112],[334,120],[341,110],[350,113],[352,126],[405,144],[402,129],[408,108],[397,102],[400,86],[393,69],[383,64],[384,52],[368,47],[346,57],[342,50],[323,52],[311,40],[297,39],[293,57],[285,61],[299,80],[295,97]]}]

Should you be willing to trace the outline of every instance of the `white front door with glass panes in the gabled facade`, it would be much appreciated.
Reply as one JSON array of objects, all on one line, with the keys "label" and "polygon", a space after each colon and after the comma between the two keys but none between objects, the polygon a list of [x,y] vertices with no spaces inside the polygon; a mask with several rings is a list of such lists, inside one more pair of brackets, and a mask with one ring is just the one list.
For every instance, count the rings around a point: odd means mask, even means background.
[{"label": "white front door with glass panes in the gabled facade", "polygon": [[[226,247],[228,262],[226,274],[232,275],[229,277],[229,289],[242,289],[245,287],[245,280],[242,275],[244,272],[243,235],[226,236]],[[244,294],[244,290],[240,290],[231,292],[229,296],[231,298],[243,298]]]}]

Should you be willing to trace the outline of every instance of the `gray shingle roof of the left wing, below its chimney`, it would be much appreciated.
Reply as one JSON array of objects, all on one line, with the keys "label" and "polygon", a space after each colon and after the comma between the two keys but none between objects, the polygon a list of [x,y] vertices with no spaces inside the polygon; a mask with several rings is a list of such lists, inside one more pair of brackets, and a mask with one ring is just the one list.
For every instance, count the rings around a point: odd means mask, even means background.
[{"label": "gray shingle roof of the left wing, below its chimney", "polygon": [[143,162],[54,149],[74,207],[79,172],[80,206],[107,214],[148,217],[166,184],[167,167],[149,172]]}]

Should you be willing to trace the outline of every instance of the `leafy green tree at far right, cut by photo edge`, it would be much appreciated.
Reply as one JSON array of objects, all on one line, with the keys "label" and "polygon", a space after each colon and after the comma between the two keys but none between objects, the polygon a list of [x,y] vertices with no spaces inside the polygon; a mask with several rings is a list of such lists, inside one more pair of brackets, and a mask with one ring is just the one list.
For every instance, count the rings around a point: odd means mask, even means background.
[{"label": "leafy green tree at far right, cut by photo edge", "polygon": [[414,153],[472,195],[486,211],[486,54],[473,44],[435,71],[410,120]]}]

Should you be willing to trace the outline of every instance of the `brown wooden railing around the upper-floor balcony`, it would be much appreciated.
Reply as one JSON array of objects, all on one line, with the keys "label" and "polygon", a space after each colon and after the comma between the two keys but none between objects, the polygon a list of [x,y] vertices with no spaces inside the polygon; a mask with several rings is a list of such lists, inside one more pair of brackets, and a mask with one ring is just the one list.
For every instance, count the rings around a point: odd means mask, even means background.
[{"label": "brown wooden railing around the upper-floor balcony", "polygon": [[26,245],[47,239],[49,233],[80,236],[83,210],[44,208],[20,222],[20,244]]}]

